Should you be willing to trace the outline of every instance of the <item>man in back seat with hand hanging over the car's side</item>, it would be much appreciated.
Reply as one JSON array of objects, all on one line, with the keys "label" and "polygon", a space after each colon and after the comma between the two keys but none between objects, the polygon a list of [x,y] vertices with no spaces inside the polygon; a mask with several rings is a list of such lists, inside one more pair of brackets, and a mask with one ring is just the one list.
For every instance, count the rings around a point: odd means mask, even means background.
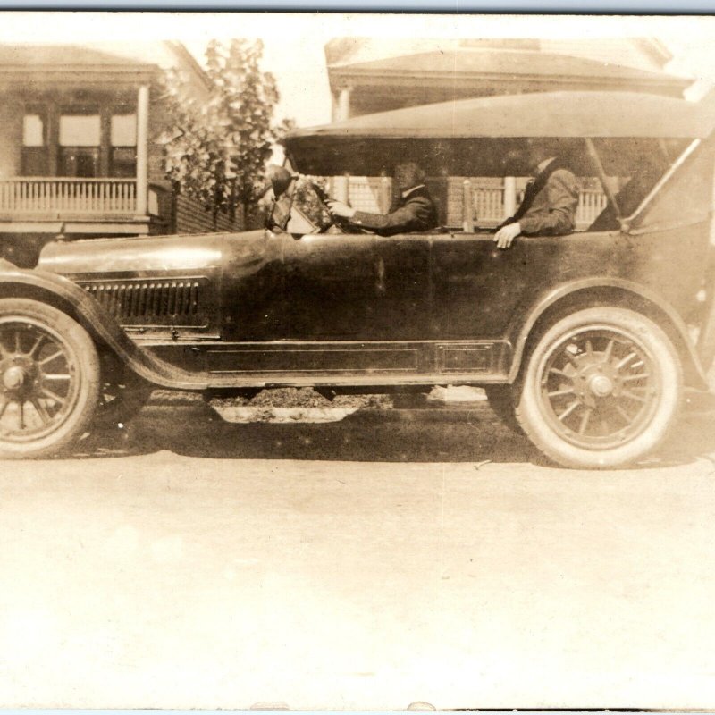
[{"label": "man in back seat with hand hanging over the car's side", "polygon": [[494,236],[498,248],[509,248],[517,236],[559,236],[574,231],[578,207],[576,176],[548,149],[531,147],[534,181],[529,182],[517,213]]}]

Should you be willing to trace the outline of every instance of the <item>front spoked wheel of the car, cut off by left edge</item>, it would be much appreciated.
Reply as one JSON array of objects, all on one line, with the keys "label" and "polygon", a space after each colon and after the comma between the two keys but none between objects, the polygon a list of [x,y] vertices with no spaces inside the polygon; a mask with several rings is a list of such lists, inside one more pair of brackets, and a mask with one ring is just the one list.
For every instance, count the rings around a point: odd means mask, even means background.
[{"label": "front spoked wheel of the car, cut off by left edge", "polygon": [[97,349],[80,324],[36,300],[0,300],[0,457],[69,446],[87,430],[98,391]]}]

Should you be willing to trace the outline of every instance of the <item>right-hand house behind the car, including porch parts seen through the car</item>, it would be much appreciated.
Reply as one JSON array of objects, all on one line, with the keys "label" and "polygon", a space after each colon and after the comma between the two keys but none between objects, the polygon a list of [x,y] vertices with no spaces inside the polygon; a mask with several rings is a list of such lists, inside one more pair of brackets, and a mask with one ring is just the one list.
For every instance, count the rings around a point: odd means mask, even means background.
[{"label": "right-hand house behind the car, including porch parts seen through the car", "polygon": [[[335,38],[325,46],[334,121],[467,97],[558,90],[642,91],[683,97],[693,80],[664,71],[672,59],[652,38]],[[526,185],[484,177],[430,177],[441,223],[474,215],[494,226],[513,214]],[[593,222],[606,198],[584,181],[576,225]],[[332,192],[364,211],[388,210],[381,177],[335,177]],[[388,197],[388,198],[385,198]],[[467,211],[466,202],[471,202]]]}]

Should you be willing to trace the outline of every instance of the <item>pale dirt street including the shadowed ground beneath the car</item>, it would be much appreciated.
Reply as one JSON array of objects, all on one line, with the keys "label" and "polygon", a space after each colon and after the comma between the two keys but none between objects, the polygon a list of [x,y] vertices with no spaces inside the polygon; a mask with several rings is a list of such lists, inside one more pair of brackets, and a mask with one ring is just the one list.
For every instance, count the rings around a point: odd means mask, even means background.
[{"label": "pale dirt street including the shadowed ground beneath the car", "polygon": [[715,706],[715,415],[601,473],[442,417],[149,407],[0,464],[0,705]]}]

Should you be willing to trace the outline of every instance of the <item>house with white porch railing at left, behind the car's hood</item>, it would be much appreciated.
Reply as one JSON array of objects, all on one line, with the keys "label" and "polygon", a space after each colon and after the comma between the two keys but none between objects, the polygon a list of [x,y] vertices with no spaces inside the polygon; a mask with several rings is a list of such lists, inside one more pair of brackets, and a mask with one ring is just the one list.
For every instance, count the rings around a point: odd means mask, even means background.
[{"label": "house with white porch railing at left, behind the car's hood", "polygon": [[[204,71],[177,42],[0,46],[0,246],[31,263],[57,236],[213,229],[165,180],[157,81],[173,66],[192,94]],[[227,215],[220,230],[231,230]]]}]

